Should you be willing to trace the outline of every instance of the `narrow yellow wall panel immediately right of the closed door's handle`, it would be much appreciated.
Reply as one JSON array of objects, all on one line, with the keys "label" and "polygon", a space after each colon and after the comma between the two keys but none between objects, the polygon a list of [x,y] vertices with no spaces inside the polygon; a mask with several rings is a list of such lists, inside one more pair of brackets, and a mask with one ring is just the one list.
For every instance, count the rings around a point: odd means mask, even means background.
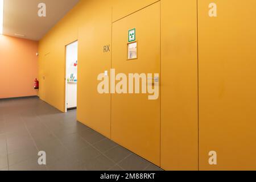
[{"label": "narrow yellow wall panel immediately right of the closed door's handle", "polygon": [[198,169],[197,1],[161,1],[161,167]]}]

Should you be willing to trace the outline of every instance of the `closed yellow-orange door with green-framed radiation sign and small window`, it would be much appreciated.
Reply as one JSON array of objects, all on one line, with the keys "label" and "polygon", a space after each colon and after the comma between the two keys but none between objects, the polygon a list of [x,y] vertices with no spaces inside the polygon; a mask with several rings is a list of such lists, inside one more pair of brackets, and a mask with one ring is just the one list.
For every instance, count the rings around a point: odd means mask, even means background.
[{"label": "closed yellow-orange door with green-framed radiation sign and small window", "polygon": [[[133,28],[138,59],[127,60],[128,31]],[[114,22],[112,35],[116,74],[160,74],[160,2]],[[160,98],[148,100],[148,94],[142,93],[112,94],[111,126],[115,142],[160,166]]]}]

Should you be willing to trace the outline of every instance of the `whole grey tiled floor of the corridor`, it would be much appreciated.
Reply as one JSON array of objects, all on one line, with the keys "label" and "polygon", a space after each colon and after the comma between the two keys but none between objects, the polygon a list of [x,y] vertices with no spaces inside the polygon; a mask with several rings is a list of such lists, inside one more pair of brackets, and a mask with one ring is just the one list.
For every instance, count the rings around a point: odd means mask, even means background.
[{"label": "whole grey tiled floor of the corridor", "polygon": [[[38,151],[47,165],[39,166]],[[39,98],[0,100],[0,171],[161,170]]]}]

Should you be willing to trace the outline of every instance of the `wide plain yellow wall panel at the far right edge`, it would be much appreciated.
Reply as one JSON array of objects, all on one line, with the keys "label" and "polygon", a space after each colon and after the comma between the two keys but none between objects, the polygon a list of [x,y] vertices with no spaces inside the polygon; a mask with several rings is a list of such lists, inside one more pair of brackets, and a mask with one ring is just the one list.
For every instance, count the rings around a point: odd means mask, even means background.
[{"label": "wide plain yellow wall panel at the far right edge", "polygon": [[[217,17],[208,15],[216,3]],[[256,169],[256,2],[199,1],[201,170]],[[209,151],[217,165],[209,165]]]}]

